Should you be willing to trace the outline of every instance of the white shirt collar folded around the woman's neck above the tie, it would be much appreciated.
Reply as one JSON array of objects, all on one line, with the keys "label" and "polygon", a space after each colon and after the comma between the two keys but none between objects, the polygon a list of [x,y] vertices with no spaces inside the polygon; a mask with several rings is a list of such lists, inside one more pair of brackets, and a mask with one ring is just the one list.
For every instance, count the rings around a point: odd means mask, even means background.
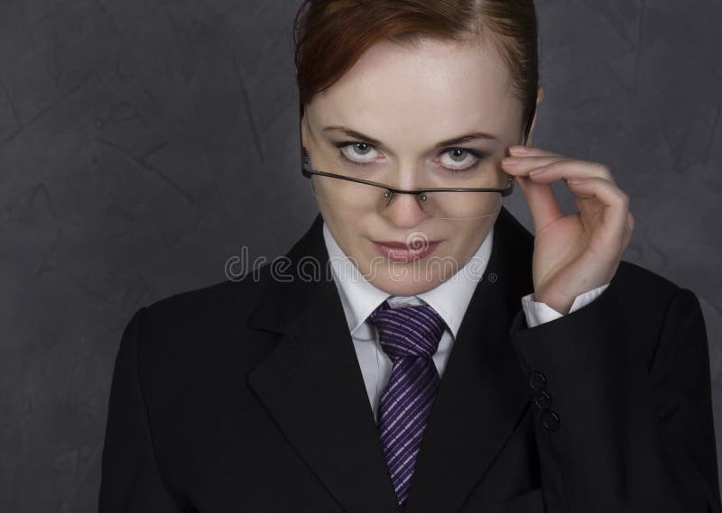
[{"label": "white shirt collar folded around the woman's neck above the tie", "polygon": [[[323,224],[323,239],[329,252],[329,263],[334,281],[338,288],[341,304],[346,314],[348,329],[353,335],[364,325],[366,317],[391,295],[378,289],[361,274],[356,266],[347,258],[331,235],[326,223]],[[435,289],[422,292],[412,297],[393,297],[392,306],[400,304],[428,304],[441,316],[449,331],[456,339],[461,320],[467,311],[479,279],[486,270],[486,263],[491,255],[494,240],[494,227],[479,245],[477,252],[451,278],[440,283]]]}]

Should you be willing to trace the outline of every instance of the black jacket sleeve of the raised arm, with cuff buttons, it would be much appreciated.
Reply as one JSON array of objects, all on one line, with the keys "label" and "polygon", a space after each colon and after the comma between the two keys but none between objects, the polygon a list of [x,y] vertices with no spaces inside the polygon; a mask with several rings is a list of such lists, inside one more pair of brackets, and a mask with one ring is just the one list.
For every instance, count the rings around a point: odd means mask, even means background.
[{"label": "black jacket sleeve of the raised arm, with cuff buttons", "polygon": [[679,289],[644,353],[613,284],[586,307],[510,334],[534,398],[549,513],[722,513],[708,341]]}]

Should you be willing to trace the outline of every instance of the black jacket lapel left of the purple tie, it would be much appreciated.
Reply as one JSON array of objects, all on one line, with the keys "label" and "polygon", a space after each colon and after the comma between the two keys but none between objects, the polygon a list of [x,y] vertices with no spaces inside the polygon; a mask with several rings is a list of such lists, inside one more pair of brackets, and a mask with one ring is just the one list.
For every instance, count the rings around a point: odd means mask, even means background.
[{"label": "black jacket lapel left of the purple tie", "polygon": [[[320,216],[289,254],[322,264]],[[310,272],[307,266],[306,272]],[[290,272],[290,274],[295,274]],[[272,281],[251,325],[281,333],[248,383],[301,458],[348,512],[397,512],[373,412],[332,276]],[[328,279],[326,279],[328,278]]]}]

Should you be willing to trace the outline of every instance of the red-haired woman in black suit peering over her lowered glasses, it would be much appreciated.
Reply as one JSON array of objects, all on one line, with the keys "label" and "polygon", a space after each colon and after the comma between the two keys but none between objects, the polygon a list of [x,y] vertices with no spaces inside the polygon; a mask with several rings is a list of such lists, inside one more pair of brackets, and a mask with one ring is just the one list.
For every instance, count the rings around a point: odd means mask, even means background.
[{"label": "red-haired woman in black suit peering over her lowered glasses", "polygon": [[532,0],[313,0],[297,34],[320,215],[136,312],[100,510],[722,511],[699,302],[621,261],[610,169],[532,147]]}]

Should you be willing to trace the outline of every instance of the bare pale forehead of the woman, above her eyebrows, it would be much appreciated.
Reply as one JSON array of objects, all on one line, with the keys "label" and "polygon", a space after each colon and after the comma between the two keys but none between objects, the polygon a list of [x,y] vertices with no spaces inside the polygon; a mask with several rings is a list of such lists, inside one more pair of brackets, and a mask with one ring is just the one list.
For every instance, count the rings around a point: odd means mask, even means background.
[{"label": "bare pale forehead of the woman, above her eyebrows", "polygon": [[518,128],[522,108],[511,86],[504,61],[480,42],[381,41],[314,96],[309,115],[397,140],[402,133],[439,140],[471,129],[503,135]]}]

